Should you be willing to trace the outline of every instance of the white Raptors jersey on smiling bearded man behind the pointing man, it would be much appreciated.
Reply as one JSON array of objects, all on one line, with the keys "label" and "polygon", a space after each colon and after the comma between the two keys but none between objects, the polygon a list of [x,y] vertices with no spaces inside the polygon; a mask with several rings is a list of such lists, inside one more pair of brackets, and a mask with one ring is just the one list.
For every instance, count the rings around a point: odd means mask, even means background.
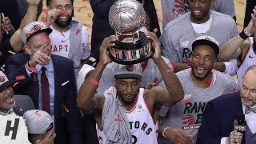
[{"label": "white Raptors jersey on smiling bearded man behind the pointing man", "polygon": [[[60,55],[62,57],[68,58],[69,50],[72,48],[70,46],[70,30],[66,32],[59,32],[58,30],[55,30],[53,26],[50,26],[50,28],[53,30],[52,33],[50,33],[50,39],[51,39],[51,54]],[[89,58],[90,56],[90,46],[89,46],[89,35],[87,32],[87,27],[82,26],[82,46],[81,49],[83,49],[82,53],[82,60]]]}]

